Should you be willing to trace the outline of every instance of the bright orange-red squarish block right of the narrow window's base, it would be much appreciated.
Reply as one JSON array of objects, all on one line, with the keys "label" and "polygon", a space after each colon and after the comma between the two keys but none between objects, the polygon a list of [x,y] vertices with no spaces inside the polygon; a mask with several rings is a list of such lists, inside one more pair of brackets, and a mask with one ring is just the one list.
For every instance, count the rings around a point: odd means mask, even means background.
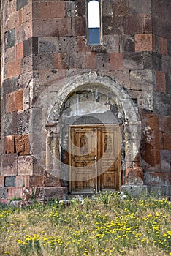
[{"label": "bright orange-red squarish block right of the narrow window's base", "polygon": [[135,51],[152,51],[155,36],[153,34],[136,34]]}]

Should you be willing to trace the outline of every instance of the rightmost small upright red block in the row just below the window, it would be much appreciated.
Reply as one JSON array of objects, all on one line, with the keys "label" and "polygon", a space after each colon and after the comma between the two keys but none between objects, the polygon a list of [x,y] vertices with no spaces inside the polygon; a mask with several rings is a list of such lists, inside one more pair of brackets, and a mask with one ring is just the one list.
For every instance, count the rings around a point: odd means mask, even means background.
[{"label": "rightmost small upright red block in the row just below the window", "polygon": [[110,70],[123,69],[123,53],[110,53]]}]

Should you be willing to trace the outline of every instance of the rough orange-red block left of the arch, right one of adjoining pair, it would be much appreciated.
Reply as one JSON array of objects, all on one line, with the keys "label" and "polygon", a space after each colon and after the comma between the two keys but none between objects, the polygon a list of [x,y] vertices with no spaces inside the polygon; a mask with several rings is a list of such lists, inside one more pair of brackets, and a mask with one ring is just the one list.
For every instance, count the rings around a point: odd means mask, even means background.
[{"label": "rough orange-red block left of the arch, right one of adjoining pair", "polygon": [[19,155],[26,155],[30,153],[28,134],[15,135],[15,148]]}]

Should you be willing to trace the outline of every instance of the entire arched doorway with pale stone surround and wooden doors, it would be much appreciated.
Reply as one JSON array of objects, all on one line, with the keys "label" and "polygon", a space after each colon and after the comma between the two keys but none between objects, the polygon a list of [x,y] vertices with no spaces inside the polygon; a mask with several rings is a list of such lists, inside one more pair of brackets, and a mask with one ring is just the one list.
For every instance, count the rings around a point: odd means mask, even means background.
[{"label": "entire arched doorway with pale stone surround and wooden doors", "polygon": [[70,81],[58,92],[46,127],[46,169],[58,173],[69,192],[115,190],[125,183],[139,151],[140,118],[114,80],[90,73]]}]

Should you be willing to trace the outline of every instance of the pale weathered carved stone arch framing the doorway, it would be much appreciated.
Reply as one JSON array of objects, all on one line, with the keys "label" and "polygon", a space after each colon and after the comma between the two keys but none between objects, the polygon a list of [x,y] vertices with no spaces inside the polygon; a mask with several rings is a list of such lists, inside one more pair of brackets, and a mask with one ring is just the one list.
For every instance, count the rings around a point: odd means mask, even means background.
[{"label": "pale weathered carved stone arch framing the doorway", "polygon": [[[83,86],[89,86],[90,88],[91,86],[101,86],[114,94],[115,98],[118,99],[118,102],[121,103],[121,108],[123,109],[125,117],[123,121],[123,127],[126,166],[124,169],[134,169],[134,164],[136,162],[138,162],[137,165],[140,166],[140,158],[137,156],[139,156],[140,148],[141,122],[140,116],[137,113],[137,108],[123,86],[116,83],[114,79],[99,75],[96,72],[90,72],[87,74],[78,75],[75,78],[71,78],[69,82],[66,83],[66,85],[58,91],[58,94],[56,95],[56,102],[48,111],[46,124],[48,134],[51,134],[51,132],[53,132],[53,134],[57,134],[58,131],[60,132],[59,119],[64,103],[66,102],[66,99],[72,95],[73,92],[83,88]],[[54,132],[54,130],[56,132]],[[56,152],[56,155],[60,155],[60,153]],[[48,152],[47,159],[49,159]],[[46,163],[46,166],[48,169],[49,162]],[[142,183],[142,181],[140,181],[140,183]]]}]

